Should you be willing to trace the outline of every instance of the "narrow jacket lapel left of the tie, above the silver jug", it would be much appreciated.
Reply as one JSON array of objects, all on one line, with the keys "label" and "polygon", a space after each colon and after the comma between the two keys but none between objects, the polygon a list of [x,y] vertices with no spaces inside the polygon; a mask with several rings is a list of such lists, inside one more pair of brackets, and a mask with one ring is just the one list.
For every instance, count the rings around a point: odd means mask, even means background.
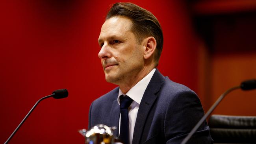
[{"label": "narrow jacket lapel left of the tie, above the silver jug", "polygon": [[118,137],[118,131],[119,131],[119,117],[120,117],[120,106],[117,103],[117,100],[114,100],[112,103],[111,111],[110,111],[109,126],[117,127],[117,129],[113,131],[116,137]]}]

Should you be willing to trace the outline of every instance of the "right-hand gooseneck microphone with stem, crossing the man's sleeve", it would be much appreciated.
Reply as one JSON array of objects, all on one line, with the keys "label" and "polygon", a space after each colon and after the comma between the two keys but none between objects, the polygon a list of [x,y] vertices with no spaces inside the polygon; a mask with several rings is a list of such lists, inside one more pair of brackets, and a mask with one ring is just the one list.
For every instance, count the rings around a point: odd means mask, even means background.
[{"label": "right-hand gooseneck microphone with stem, crossing the man's sleeve", "polygon": [[243,81],[239,86],[232,87],[228,90],[226,90],[221,96],[216,100],[215,103],[210,107],[210,109],[207,111],[207,113],[197,122],[197,125],[190,131],[190,133],[187,135],[184,140],[182,140],[181,144],[186,144],[187,141],[192,137],[192,135],[197,131],[198,127],[201,126],[201,124],[206,120],[206,118],[211,114],[211,112],[217,107],[217,105],[221,102],[221,100],[231,91],[235,89],[242,89],[242,90],[252,90],[256,89],[256,79],[250,79],[247,81]]}]

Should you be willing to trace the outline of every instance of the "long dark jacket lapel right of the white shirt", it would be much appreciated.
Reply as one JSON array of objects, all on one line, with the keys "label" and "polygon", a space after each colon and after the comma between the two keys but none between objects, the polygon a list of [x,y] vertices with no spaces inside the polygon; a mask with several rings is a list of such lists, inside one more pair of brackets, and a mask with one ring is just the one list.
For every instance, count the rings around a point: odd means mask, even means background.
[{"label": "long dark jacket lapel right of the white shirt", "polygon": [[147,120],[148,113],[157,98],[156,94],[160,90],[161,85],[164,81],[164,76],[156,69],[156,72],[152,76],[150,82],[148,83],[147,89],[145,90],[141,103],[139,105],[139,111],[137,114],[134,135],[132,144],[139,144],[141,140],[141,135]]}]

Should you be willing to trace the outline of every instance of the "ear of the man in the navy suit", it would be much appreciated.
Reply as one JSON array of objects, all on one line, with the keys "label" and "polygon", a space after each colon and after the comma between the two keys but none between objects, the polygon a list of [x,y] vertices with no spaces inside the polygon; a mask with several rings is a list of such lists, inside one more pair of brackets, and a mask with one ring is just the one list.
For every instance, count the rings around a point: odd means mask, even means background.
[{"label": "ear of the man in the navy suit", "polygon": [[154,37],[148,37],[144,39],[144,59],[149,59],[153,56],[156,50],[156,39]]}]

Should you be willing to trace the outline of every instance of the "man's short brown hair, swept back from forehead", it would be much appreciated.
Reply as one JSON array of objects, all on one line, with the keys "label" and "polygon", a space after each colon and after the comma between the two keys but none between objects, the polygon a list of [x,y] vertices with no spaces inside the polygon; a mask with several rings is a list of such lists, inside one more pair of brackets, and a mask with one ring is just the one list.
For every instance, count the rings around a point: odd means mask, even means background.
[{"label": "man's short brown hair, swept back from forehead", "polygon": [[158,61],[163,49],[163,32],[157,18],[146,9],[132,3],[115,3],[109,9],[106,20],[115,16],[123,16],[132,20],[132,32],[140,43],[145,37],[152,36],[156,39],[156,55]]}]

